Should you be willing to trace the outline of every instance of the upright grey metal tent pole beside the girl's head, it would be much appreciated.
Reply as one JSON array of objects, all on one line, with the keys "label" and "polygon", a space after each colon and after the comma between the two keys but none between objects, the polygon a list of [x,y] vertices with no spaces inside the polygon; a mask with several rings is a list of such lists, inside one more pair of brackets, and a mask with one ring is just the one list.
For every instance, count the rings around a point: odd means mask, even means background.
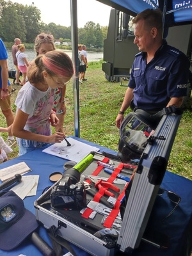
[{"label": "upright grey metal tent pole beside the girl's head", "polygon": [[79,125],[79,70],[78,60],[78,29],[77,29],[77,0],[70,0],[71,38],[72,38],[72,61],[75,67],[73,79],[74,90],[74,130],[75,136],[80,137]]}]

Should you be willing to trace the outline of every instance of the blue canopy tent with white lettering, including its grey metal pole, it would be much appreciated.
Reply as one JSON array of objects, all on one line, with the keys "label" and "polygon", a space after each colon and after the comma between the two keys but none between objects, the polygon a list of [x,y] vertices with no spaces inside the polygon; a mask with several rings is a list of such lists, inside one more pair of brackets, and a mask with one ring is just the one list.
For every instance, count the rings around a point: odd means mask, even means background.
[{"label": "blue canopy tent with white lettering, including its grey metal pole", "polygon": [[[160,8],[163,12],[164,38],[168,33],[168,28],[192,24],[192,1],[191,0],[97,0],[127,13],[136,16],[148,8]],[[79,80],[77,68],[77,0],[70,0],[71,4],[71,24],[72,24],[72,60],[76,67],[76,76],[74,77],[74,127],[75,136],[80,136],[79,122]],[[192,38],[191,38],[192,40]]]}]

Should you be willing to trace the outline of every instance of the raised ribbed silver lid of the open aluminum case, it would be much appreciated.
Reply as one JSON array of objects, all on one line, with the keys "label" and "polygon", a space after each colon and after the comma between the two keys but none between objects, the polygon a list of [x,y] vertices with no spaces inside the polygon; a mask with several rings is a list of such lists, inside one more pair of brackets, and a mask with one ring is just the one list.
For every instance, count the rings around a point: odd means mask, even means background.
[{"label": "raised ribbed silver lid of the open aluminum case", "polygon": [[118,248],[122,252],[129,253],[140,245],[166,171],[181,116],[163,115],[150,143],[141,155],[138,169],[132,180],[117,241]]}]

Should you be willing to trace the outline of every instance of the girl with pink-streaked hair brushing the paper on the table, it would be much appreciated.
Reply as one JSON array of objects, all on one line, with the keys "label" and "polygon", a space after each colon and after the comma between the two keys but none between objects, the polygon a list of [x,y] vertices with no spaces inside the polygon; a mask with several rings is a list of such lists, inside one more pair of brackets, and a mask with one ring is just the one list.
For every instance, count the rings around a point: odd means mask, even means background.
[{"label": "girl with pink-streaked hair brushing the paper on the table", "polygon": [[51,134],[51,125],[59,124],[52,103],[54,89],[62,88],[73,74],[72,60],[63,51],[49,51],[33,60],[28,82],[15,100],[17,113],[12,132],[17,137],[19,156],[65,138],[63,132]]}]

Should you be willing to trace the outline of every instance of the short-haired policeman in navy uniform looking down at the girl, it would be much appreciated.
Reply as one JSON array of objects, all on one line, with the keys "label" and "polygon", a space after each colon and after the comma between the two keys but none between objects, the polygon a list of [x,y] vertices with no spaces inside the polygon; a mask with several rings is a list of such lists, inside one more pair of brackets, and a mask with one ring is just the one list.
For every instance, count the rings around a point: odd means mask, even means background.
[{"label": "short-haired policeman in navy uniform looking down at the girl", "polygon": [[172,105],[180,107],[188,87],[189,59],[162,38],[161,10],[144,10],[132,22],[134,44],[141,52],[135,56],[124,101],[116,117],[118,128],[129,106],[151,114]]}]

